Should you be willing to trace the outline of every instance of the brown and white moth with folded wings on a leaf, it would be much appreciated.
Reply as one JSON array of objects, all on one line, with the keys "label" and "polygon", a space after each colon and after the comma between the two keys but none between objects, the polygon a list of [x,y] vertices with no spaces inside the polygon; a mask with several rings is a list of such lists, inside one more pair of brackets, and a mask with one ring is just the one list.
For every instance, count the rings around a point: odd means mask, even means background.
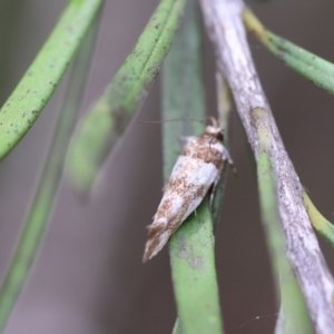
[{"label": "brown and white moth with folded wings on a leaf", "polygon": [[148,226],[143,262],[150,259],[166,245],[209,190],[212,206],[225,161],[233,167],[233,160],[223,145],[223,131],[216,119],[212,118],[212,122],[202,135],[183,138],[186,144],[163,189],[164,196],[154,222]]}]

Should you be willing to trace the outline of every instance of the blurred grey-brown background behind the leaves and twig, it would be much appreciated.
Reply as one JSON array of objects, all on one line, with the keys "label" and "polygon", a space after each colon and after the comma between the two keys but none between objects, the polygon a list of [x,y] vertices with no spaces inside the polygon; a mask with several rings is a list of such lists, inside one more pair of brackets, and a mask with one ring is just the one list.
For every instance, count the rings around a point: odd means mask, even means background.
[{"label": "blurred grey-brown background behind the leaves and twig", "polygon": [[[0,0],[0,105],[18,84],[56,23],[66,0]],[[101,94],[131,50],[157,0],[107,0],[82,111]],[[247,2],[274,32],[334,61],[332,0]],[[331,29],[330,29],[331,28]],[[334,222],[334,98],[273,58],[250,48],[282,138],[302,184]],[[206,38],[208,114],[215,114],[214,57]],[[38,181],[56,124],[57,92],[18,147],[0,164],[0,281]],[[8,334],[167,334],[176,306],[167,248],[141,264],[146,228],[161,197],[159,78],[121,146],[105,166],[95,196],[61,181],[50,227]],[[216,236],[226,333],[272,333],[278,306],[258,213],[255,174],[239,119],[233,116],[229,175]],[[333,249],[321,242],[334,268]],[[259,320],[255,317],[259,316]],[[249,322],[250,321],[250,322]],[[249,322],[249,323],[248,323]]]}]

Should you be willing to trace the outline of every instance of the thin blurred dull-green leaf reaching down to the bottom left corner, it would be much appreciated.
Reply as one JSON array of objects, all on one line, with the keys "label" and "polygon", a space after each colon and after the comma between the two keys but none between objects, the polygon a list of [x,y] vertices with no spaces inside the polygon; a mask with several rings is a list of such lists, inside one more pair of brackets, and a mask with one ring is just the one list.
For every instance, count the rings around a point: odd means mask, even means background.
[{"label": "thin blurred dull-green leaf reaching down to the bottom left corner", "polygon": [[89,62],[94,50],[94,41],[96,40],[96,33],[94,32],[96,31],[97,24],[95,24],[94,31],[89,33],[89,40],[87,40],[84,46],[85,48],[80,50],[72,65],[67,95],[63,100],[43,173],[22,234],[16,247],[14,256],[0,291],[0,333],[3,332],[12,308],[28,278],[55,205],[66,151],[75,126],[76,114],[80,108]]}]

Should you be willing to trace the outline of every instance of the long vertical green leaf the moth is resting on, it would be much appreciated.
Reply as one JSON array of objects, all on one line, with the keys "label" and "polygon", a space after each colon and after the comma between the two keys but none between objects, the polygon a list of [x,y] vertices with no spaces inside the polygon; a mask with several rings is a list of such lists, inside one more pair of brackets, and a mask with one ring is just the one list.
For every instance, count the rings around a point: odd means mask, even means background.
[{"label": "long vertical green leaf the moth is resting on", "polygon": [[[188,2],[185,18],[163,69],[164,179],[167,183],[181,150],[178,136],[203,132],[203,45],[198,3]],[[179,320],[174,333],[223,333],[215,268],[213,217],[207,199],[170,238],[170,264]]]}]

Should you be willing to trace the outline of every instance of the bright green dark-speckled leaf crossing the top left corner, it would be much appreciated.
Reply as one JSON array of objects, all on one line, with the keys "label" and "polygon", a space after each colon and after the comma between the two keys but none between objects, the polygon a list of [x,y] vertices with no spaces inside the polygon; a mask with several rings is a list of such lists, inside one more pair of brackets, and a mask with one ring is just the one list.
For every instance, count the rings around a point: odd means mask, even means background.
[{"label": "bright green dark-speckled leaf crossing the top left corner", "polygon": [[32,126],[57,88],[102,0],[69,1],[49,39],[0,109],[0,159]]}]

